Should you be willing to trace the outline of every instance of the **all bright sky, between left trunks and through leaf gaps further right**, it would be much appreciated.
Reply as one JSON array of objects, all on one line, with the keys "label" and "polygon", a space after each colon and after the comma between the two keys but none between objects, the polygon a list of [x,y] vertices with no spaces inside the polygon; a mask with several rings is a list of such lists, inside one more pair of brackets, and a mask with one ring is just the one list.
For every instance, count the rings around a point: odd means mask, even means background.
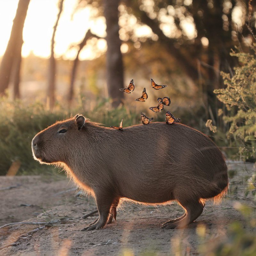
[{"label": "all bright sky, between left trunks and through leaf gaps further right", "polygon": [[[12,21],[15,17],[18,1],[0,0],[0,56],[4,54],[10,37]],[[187,2],[189,1],[187,0]],[[34,55],[39,57],[47,58],[50,56],[52,31],[59,11],[58,2],[59,0],[30,0],[23,29],[23,57],[27,57],[30,52],[33,52]],[[146,0],[146,2],[148,3],[150,0]],[[76,0],[64,0],[64,8],[55,34],[54,52],[56,57],[63,56],[66,59],[74,59],[77,49],[70,49],[70,46],[80,43],[88,28],[91,28],[92,33],[98,36],[106,36],[105,19],[103,17],[90,19],[92,10],[89,7],[77,10],[72,16],[76,3]],[[152,1],[151,4],[154,4],[154,2]],[[124,8],[122,5],[119,7],[122,13],[122,9]],[[164,33],[166,36],[174,36],[177,32],[173,30],[175,27],[174,21],[170,20],[170,16],[166,18],[163,15],[162,17],[162,29]],[[129,16],[127,13],[122,13],[122,17],[119,19],[120,25],[134,30],[136,37],[152,36],[152,30],[148,26],[139,25],[136,22],[137,19],[134,16]],[[196,36],[193,21],[184,19],[181,26],[185,28],[188,38],[192,39]],[[152,39],[155,40],[154,36],[157,39],[156,35],[153,35]],[[120,37],[124,41],[127,40],[125,38],[127,36],[125,36],[125,33],[122,33],[122,29],[120,30]],[[105,52],[106,48],[107,45],[104,39],[88,41],[84,49],[80,52],[79,58],[80,60],[94,59]],[[123,53],[127,52],[128,45],[125,43],[122,44],[121,51]]]}]

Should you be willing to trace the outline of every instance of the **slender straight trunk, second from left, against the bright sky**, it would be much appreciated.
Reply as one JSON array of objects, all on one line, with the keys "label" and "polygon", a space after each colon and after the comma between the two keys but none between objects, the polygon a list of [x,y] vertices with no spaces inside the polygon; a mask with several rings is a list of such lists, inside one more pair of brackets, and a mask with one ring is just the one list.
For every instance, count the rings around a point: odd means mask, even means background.
[{"label": "slender straight trunk, second from left, against the bright sky", "polygon": [[53,27],[53,32],[52,32],[52,44],[51,44],[51,56],[49,59],[49,78],[48,78],[48,91],[47,91],[47,98],[49,100],[49,107],[52,110],[54,107],[55,103],[55,87],[56,87],[56,62],[54,58],[54,37],[56,33],[56,29],[60,20],[60,14],[63,10],[63,1],[60,0],[59,2],[59,13],[57,16],[57,20],[55,23],[55,26]]}]

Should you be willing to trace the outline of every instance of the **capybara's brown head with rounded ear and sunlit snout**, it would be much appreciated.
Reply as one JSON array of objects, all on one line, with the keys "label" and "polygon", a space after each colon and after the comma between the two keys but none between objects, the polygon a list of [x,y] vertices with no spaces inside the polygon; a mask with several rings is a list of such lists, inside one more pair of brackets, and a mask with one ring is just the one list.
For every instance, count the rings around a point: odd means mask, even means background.
[{"label": "capybara's brown head with rounded ear and sunlit snout", "polygon": [[38,132],[32,140],[34,158],[47,164],[64,162],[67,154],[70,156],[71,151],[76,151],[84,123],[84,116],[76,115]]}]

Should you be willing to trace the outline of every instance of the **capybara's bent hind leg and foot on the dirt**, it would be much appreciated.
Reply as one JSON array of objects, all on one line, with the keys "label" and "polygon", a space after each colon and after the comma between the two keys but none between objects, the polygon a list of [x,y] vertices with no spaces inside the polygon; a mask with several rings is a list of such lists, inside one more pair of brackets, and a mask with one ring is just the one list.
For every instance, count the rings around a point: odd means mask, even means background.
[{"label": "capybara's bent hind leg and foot on the dirt", "polygon": [[[203,212],[204,205],[199,203],[199,200],[177,200],[180,205],[185,209],[187,215],[180,221],[174,223],[166,223],[162,228],[173,229],[173,228],[184,228],[196,218],[198,218]],[[184,215],[183,215],[184,216]]]}]

